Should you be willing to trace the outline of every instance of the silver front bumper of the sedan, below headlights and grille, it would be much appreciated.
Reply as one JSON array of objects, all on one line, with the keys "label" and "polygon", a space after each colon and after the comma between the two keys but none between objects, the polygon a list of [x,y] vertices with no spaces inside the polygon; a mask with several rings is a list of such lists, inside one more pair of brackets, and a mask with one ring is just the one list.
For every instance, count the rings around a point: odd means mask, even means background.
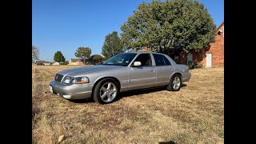
[{"label": "silver front bumper of the sedan, below headlights and grille", "polygon": [[67,99],[90,98],[93,89],[93,86],[91,86],[90,83],[66,86],[64,83],[56,82],[54,80],[50,81],[50,86],[52,87],[54,94],[58,94]]}]

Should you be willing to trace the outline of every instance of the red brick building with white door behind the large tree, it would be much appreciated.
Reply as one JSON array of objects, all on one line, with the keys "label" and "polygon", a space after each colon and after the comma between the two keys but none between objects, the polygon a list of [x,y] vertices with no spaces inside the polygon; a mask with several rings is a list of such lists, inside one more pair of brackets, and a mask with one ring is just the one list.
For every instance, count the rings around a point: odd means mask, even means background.
[{"label": "red brick building with white door behind the large tree", "polygon": [[177,52],[171,58],[180,64],[195,66],[201,63],[204,67],[222,67],[224,66],[224,22],[218,27],[215,42],[210,46],[196,52],[191,50],[186,54],[185,51]]}]

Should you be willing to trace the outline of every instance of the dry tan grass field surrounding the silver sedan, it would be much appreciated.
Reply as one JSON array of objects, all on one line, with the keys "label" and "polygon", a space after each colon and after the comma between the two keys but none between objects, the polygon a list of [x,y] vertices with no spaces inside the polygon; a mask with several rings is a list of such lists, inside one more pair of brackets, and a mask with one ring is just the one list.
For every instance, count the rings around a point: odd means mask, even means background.
[{"label": "dry tan grass field surrounding the silver sedan", "polygon": [[223,143],[224,69],[190,70],[181,90],[134,90],[108,105],[49,91],[58,70],[32,67],[33,143]]}]

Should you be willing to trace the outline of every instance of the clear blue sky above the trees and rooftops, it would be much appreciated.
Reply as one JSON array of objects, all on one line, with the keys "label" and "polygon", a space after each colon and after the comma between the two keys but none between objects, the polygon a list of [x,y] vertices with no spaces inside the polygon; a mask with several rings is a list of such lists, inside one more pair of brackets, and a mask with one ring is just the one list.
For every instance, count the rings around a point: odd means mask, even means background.
[{"label": "clear blue sky above the trees and rooftops", "polygon": [[[39,59],[54,61],[62,51],[69,61],[78,47],[90,47],[91,55],[102,55],[107,34],[120,29],[138,5],[152,0],[32,0],[32,45],[39,49]],[[224,21],[224,0],[199,0],[214,19]]]}]

